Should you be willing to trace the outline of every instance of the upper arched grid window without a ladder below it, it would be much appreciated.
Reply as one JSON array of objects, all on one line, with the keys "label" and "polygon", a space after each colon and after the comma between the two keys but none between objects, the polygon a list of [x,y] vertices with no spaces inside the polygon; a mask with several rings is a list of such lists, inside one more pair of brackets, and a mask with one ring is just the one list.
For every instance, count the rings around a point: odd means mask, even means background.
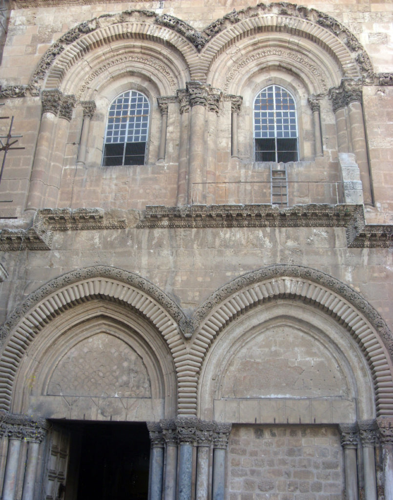
[{"label": "upper arched grid window without a ladder below it", "polygon": [[136,90],[118,95],[110,104],[102,165],[143,165],[149,103]]}]

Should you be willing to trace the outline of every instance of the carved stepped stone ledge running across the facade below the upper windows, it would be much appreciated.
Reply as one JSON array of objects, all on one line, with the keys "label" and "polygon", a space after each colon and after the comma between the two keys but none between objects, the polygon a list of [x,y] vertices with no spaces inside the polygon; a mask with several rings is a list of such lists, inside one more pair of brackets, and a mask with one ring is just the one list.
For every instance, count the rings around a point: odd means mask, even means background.
[{"label": "carved stepped stone ledge running across the facade below the upper windows", "polygon": [[[130,212],[134,214],[130,217]],[[140,215],[140,218],[138,217]],[[136,219],[135,219],[136,217]],[[138,221],[137,221],[138,220]],[[365,224],[363,205],[148,205],[135,210],[43,208],[28,228],[0,230],[0,250],[50,250],[53,231],[136,228],[344,227],[348,247],[393,246],[393,225]]]}]

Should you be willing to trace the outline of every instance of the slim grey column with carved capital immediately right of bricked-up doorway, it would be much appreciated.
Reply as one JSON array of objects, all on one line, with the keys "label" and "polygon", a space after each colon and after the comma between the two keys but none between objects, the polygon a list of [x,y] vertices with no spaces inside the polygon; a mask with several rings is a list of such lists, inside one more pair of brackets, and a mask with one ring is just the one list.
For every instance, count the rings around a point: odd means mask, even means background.
[{"label": "slim grey column with carved capital immediately right of bricked-up doorway", "polygon": [[345,498],[358,500],[356,449],[358,442],[357,426],[355,424],[340,424],[341,446],[344,448],[345,467]]}]

